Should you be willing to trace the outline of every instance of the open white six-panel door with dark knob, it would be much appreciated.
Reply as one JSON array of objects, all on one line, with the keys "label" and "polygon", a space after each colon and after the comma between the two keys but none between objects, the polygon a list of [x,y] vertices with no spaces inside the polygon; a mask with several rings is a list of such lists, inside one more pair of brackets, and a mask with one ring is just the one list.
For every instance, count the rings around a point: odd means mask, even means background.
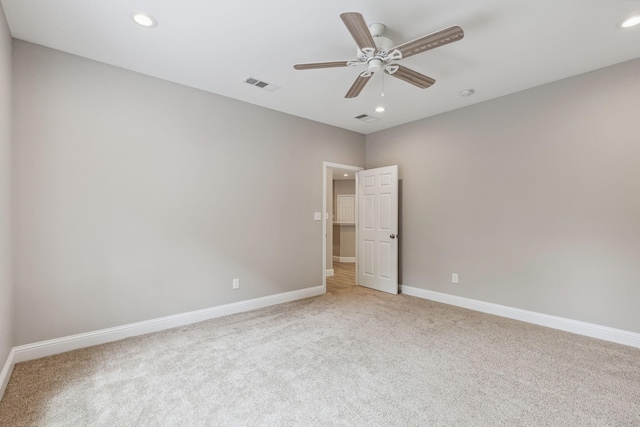
[{"label": "open white six-panel door with dark knob", "polygon": [[358,172],[358,284],[398,293],[398,166]]}]

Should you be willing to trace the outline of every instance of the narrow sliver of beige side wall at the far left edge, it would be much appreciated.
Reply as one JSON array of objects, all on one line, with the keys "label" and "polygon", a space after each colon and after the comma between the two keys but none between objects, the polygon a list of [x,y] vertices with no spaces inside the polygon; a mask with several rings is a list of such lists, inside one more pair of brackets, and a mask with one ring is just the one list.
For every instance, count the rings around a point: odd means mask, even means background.
[{"label": "narrow sliver of beige side wall at the far left edge", "polygon": [[13,347],[10,236],[11,34],[0,5],[0,370]]}]

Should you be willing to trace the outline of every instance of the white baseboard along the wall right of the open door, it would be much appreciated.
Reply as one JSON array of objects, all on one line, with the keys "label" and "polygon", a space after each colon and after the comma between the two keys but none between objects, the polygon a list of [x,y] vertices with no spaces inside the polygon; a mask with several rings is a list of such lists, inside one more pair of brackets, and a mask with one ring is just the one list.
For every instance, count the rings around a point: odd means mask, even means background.
[{"label": "white baseboard along the wall right of the open door", "polygon": [[635,332],[610,328],[608,326],[596,325],[579,320],[567,319],[564,317],[552,316],[549,314],[537,313],[535,311],[521,310],[519,308],[473,300],[456,295],[428,291],[426,289],[414,288],[411,286],[403,285],[401,287],[401,291],[405,295],[411,295],[444,304],[455,305],[483,313],[495,314],[496,316],[521,320],[523,322],[534,323],[548,328],[560,329],[574,334],[585,335],[592,338],[628,345],[630,347],[640,348],[640,334]]}]

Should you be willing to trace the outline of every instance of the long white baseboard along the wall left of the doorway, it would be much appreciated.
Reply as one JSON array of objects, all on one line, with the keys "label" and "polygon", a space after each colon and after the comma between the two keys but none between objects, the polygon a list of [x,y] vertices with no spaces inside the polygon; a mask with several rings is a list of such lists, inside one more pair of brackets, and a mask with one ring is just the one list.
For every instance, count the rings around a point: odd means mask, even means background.
[{"label": "long white baseboard along the wall left of the doorway", "polygon": [[[51,356],[53,354],[63,353],[65,351],[76,350],[79,348],[90,347],[92,345],[104,344],[111,341],[121,340],[123,338],[190,325],[192,323],[215,319],[229,314],[242,313],[245,311],[255,310],[257,308],[314,297],[322,295],[325,292],[324,286],[315,286],[298,291],[285,292],[262,298],[254,298],[217,307],[175,314],[173,316],[160,317],[157,319],[145,320],[143,322],[130,323],[128,325],[21,345],[13,348],[13,360],[10,365],[13,367],[14,363],[38,359],[40,357]],[[7,363],[9,363],[9,361],[7,361]],[[3,375],[6,370],[7,367],[5,366],[5,369],[2,371]]]}]

